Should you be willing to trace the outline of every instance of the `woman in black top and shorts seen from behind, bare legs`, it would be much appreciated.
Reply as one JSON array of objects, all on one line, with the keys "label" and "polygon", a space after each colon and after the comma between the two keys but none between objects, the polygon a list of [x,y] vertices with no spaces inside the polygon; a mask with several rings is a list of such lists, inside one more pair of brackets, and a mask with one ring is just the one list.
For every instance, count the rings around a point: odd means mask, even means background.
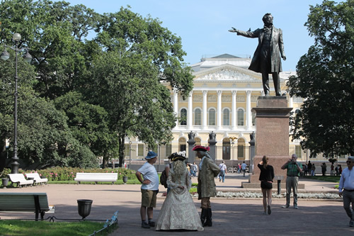
[{"label": "woman in black top and shorts seen from behind, bare legs", "polygon": [[[263,156],[261,162],[258,163],[258,168],[261,169],[261,173],[259,174],[259,180],[261,181],[261,189],[263,193],[263,208],[264,213],[268,214],[272,213],[271,205],[272,205],[272,189],[273,189],[273,179],[274,179],[274,169],[268,164],[269,158]],[[268,203],[268,204],[267,204]]]}]

